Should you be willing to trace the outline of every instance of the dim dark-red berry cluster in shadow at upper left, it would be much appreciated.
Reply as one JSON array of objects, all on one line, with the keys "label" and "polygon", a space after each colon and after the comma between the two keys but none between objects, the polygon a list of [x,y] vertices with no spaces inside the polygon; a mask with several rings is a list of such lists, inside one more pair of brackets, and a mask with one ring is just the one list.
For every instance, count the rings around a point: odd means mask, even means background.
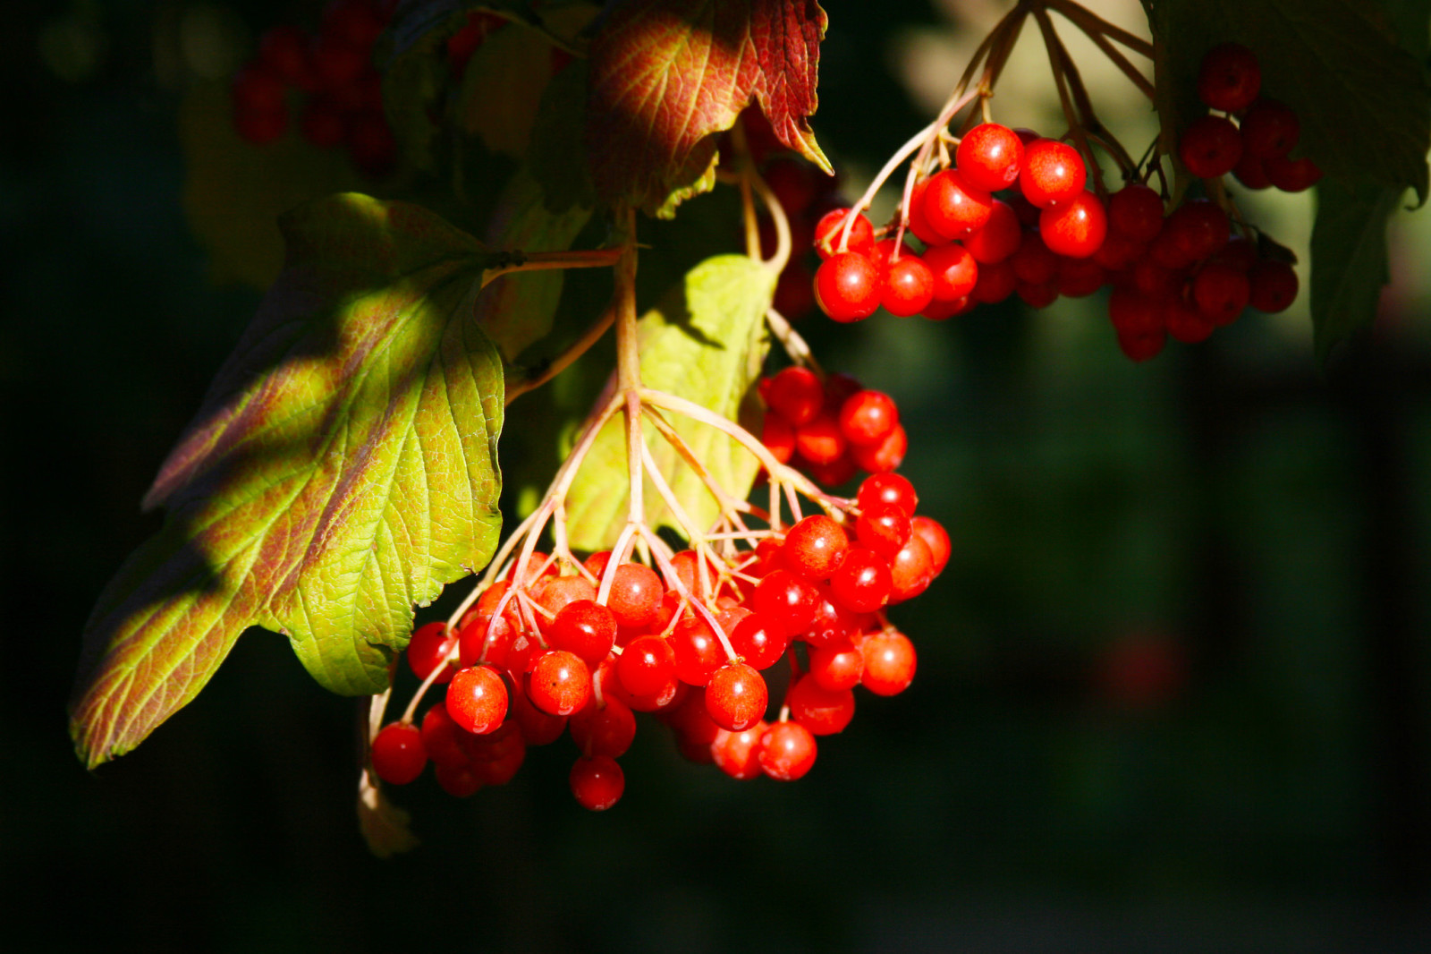
[{"label": "dim dark-red berry cluster in shadow at upper left", "polygon": [[283,136],[289,90],[303,95],[298,127],[315,146],[345,146],[365,175],[392,169],[396,143],[382,112],[382,79],[372,47],[388,26],[394,0],[336,0],[323,10],[316,34],[275,26],[258,56],[233,77],[233,126],[253,143]]}]

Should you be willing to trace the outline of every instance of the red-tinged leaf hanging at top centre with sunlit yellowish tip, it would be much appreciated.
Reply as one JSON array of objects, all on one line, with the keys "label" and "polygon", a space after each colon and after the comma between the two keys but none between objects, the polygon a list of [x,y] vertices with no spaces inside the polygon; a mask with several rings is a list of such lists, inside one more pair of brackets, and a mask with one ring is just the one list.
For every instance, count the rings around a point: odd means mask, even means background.
[{"label": "red-tinged leaf hanging at top centre with sunlit yellowish tip", "polygon": [[716,135],[760,105],[826,172],[809,117],[826,17],[814,0],[625,0],[591,42],[587,149],[600,196],[670,218],[716,180]]}]

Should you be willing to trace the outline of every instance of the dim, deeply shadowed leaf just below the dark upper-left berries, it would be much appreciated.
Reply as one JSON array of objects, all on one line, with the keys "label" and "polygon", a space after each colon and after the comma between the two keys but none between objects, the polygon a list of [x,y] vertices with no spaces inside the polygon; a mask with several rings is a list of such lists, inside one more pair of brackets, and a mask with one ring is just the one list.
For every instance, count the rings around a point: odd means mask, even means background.
[{"label": "dim, deeply shadowed leaf just below the dark upper-left berries", "polygon": [[283,268],[278,216],[363,183],[345,150],[319,149],[295,129],[262,146],[239,138],[228,83],[196,83],[185,93],[179,138],[185,213],[218,282],[272,285]]}]

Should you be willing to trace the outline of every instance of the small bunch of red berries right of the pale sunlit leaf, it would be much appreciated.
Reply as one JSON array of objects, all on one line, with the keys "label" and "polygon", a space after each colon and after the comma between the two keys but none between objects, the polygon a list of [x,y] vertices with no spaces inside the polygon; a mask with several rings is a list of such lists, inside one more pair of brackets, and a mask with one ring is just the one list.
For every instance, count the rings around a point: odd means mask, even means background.
[{"label": "small bunch of red berries right of the pale sunlit leaf", "polygon": [[846,374],[821,381],[798,365],[761,378],[758,387],[766,403],[761,443],[817,483],[839,487],[860,470],[884,474],[904,461],[909,435],[890,395]]}]

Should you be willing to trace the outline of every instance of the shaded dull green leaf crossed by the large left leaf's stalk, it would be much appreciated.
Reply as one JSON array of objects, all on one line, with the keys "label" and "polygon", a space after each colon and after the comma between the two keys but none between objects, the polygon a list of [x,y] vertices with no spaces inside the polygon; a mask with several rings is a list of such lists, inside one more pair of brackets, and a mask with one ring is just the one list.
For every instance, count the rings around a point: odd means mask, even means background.
[{"label": "shaded dull green leaf crossed by the large left leaf's stalk", "polygon": [[[519,169],[498,199],[488,228],[495,248],[524,252],[560,252],[591,218],[591,209],[571,206],[552,215],[545,196],[527,169]],[[551,331],[561,288],[561,269],[517,272],[494,279],[477,299],[477,321],[508,362]]]}]

